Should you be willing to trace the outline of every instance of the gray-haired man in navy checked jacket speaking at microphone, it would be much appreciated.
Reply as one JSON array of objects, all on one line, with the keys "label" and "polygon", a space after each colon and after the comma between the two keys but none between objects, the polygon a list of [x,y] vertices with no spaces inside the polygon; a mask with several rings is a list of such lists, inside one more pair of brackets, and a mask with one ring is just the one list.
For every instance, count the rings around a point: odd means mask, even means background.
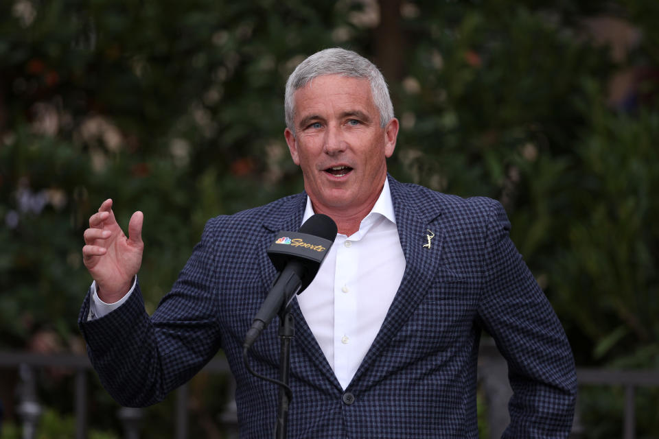
[{"label": "gray-haired man in navy checked jacket speaking at microphone", "polygon": [[[132,215],[128,237],[111,200],[91,216],[83,254],[95,283],[80,327],[108,391],[123,405],[155,403],[222,348],[241,437],[269,437],[277,389],[246,372],[242,341],[276,275],[266,256],[275,234],[325,213],[336,241],[292,302],[290,438],[478,437],[482,329],[509,364],[505,437],[566,437],[573,356],[500,204],[387,175],[398,121],[382,75],[354,52],[327,49],[303,61],[285,106],[284,135],[305,193],[209,220],[152,317],[136,280],[142,214]],[[251,362],[277,376],[277,324],[257,340]]]}]

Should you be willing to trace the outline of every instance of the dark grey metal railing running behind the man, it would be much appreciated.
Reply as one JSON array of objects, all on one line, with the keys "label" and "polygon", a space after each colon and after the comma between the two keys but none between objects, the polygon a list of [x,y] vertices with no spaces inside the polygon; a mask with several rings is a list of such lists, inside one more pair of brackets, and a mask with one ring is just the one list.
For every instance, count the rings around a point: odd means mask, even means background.
[{"label": "dark grey metal railing running behind the man", "polygon": [[[19,370],[19,402],[16,414],[21,418],[23,439],[32,439],[36,433],[42,407],[37,398],[37,368],[64,368],[74,371],[74,412],[76,418],[76,439],[86,439],[88,427],[88,377],[91,364],[87,357],[73,354],[42,355],[36,353],[0,351],[0,369]],[[223,358],[213,359],[203,369],[205,372],[230,376],[229,365]],[[634,439],[636,425],[636,407],[634,396],[636,388],[659,387],[658,370],[602,370],[577,369],[577,381],[583,385],[623,386],[625,388],[625,409],[623,417],[623,439]],[[507,364],[498,353],[494,344],[485,340],[478,357],[478,382],[485,393],[488,407],[490,438],[499,438],[509,423],[507,401],[512,390],[507,379]],[[227,395],[227,405],[220,414],[220,422],[228,437],[238,437],[238,416],[233,401],[232,381]],[[174,439],[185,439],[189,431],[188,387],[183,385],[176,390],[174,407]],[[117,412],[124,427],[124,438],[138,439],[141,431],[143,409],[122,407]],[[579,412],[575,414],[573,437],[583,433]]]}]

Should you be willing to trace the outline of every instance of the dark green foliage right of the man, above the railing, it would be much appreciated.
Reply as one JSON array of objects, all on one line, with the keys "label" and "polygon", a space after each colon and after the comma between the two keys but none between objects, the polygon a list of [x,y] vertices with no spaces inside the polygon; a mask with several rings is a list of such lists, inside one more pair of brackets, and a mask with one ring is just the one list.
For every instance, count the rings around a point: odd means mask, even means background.
[{"label": "dark green foliage right of the man, above the railing", "polygon": [[[638,16],[650,3],[618,6]],[[584,31],[583,18],[606,12],[595,3],[424,7],[407,22],[414,49],[393,86],[397,170],[501,200],[579,364],[655,345],[656,81],[636,84],[633,112],[605,100],[615,73],[647,62],[656,29],[639,19],[643,43],[616,64]]]}]

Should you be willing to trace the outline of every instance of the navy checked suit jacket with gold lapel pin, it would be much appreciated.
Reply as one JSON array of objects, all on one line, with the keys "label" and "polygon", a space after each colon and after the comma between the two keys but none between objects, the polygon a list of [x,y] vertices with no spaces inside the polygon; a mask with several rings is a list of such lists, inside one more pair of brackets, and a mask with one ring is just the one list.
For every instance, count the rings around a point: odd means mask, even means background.
[{"label": "navy checked suit jacket with gold lapel pin", "polygon": [[[505,356],[513,397],[507,438],[565,438],[576,379],[564,331],[489,198],[463,199],[389,176],[402,283],[380,332],[344,391],[301,314],[291,352],[290,438],[477,438],[476,359],[481,331]],[[266,250],[297,230],[306,194],[207,222],[201,241],[152,317],[139,287],[122,307],[80,328],[105,388],[122,405],[156,403],[218,349],[235,375],[241,438],[273,434],[277,388],[249,375],[242,342],[276,276]],[[427,230],[435,233],[432,246]],[[304,293],[302,293],[304,294]],[[251,366],[277,377],[273,322]],[[354,398],[343,398],[349,393]],[[346,402],[344,402],[344,400]]]}]

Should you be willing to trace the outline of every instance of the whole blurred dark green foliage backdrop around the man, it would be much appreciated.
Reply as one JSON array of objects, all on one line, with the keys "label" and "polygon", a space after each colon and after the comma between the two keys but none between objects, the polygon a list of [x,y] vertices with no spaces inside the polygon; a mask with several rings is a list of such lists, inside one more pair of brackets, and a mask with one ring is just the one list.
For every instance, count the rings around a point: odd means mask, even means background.
[{"label": "whole blurred dark green foliage backdrop around the man", "polygon": [[[34,437],[74,437],[75,368],[26,380],[2,358],[84,355],[100,203],[124,226],[145,214],[151,312],[209,217],[301,191],[284,84],[335,46],[389,82],[397,180],[504,204],[577,366],[659,372],[658,1],[3,0],[0,17],[1,438],[25,437],[27,381]],[[87,373],[87,434],[123,437]],[[226,374],[193,379],[189,437],[229,437],[227,394]],[[580,437],[622,437],[625,394],[582,385]],[[636,437],[659,438],[659,387],[632,402]],[[172,437],[176,403],[143,412],[141,437]]]}]

